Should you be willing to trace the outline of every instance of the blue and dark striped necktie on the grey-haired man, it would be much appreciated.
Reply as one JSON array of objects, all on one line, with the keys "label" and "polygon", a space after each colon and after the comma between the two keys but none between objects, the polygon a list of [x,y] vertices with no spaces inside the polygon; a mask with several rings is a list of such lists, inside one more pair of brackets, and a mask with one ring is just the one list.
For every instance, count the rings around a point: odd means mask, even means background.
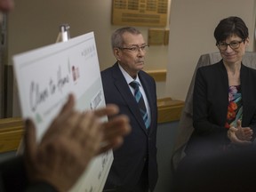
[{"label": "blue and dark striped necktie on the grey-haired man", "polygon": [[143,118],[143,121],[145,123],[146,128],[148,129],[149,127],[149,119],[148,119],[148,113],[147,113],[147,109],[145,106],[145,102],[143,100],[142,94],[140,92],[140,84],[137,81],[132,81],[130,83],[130,85],[132,86],[132,88],[134,89],[134,98],[137,101],[139,108],[140,108],[140,114]]}]

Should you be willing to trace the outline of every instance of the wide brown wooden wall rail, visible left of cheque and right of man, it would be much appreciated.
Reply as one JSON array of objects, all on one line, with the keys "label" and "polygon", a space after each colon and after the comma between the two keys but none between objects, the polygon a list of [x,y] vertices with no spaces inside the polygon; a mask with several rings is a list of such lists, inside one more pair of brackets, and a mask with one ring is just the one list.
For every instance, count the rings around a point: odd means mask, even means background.
[{"label": "wide brown wooden wall rail, visible left of cheque and right of man", "polygon": [[[157,100],[158,124],[180,120],[184,101],[164,98]],[[17,150],[24,134],[20,117],[0,119],[0,153]]]}]

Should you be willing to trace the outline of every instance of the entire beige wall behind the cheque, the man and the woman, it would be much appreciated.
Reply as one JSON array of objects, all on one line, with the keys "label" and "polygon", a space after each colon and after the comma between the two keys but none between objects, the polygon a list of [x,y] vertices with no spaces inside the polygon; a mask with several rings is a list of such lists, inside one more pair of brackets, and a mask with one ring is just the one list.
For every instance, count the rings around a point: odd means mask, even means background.
[{"label": "entire beige wall behind the cheque, the man and the woman", "polygon": [[[242,17],[253,41],[255,1],[172,0],[170,24],[166,27],[170,28],[169,47],[150,46],[146,58],[146,70],[167,68],[168,71],[167,82],[156,84],[158,98],[167,96],[185,100],[199,56],[218,51],[213,30],[222,18],[230,15]],[[22,0],[15,1],[15,4],[8,20],[10,64],[13,54],[53,44],[62,23],[70,25],[71,36],[94,31],[100,69],[114,64],[110,36],[120,26],[110,23],[112,0]],[[138,28],[147,39],[148,28]],[[252,47],[251,43],[249,51]],[[14,95],[17,96],[15,90]],[[17,116],[17,103],[14,103],[13,110],[13,116]]]}]

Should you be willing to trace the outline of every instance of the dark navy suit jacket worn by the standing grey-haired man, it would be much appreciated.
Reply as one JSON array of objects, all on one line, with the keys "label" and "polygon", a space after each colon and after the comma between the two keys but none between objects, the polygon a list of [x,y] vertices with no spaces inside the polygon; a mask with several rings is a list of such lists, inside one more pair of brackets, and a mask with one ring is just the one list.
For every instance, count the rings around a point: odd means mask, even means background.
[{"label": "dark navy suit jacket worn by the standing grey-haired man", "polygon": [[151,124],[148,130],[118,64],[101,72],[106,103],[116,103],[120,114],[130,117],[132,126],[132,132],[124,138],[122,147],[114,151],[114,162],[105,185],[105,188],[116,188],[116,191],[132,190],[145,165],[148,167],[149,188],[153,190],[156,186],[156,83],[144,71],[139,72],[139,77],[151,110]]}]

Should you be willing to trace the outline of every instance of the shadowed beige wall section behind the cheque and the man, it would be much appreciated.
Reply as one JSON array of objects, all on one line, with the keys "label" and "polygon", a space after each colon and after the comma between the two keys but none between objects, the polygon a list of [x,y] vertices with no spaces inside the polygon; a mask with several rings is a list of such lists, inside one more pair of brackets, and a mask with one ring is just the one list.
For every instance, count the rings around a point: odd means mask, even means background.
[{"label": "shadowed beige wall section behind the cheque and the man", "polygon": [[[110,47],[110,36],[121,26],[111,25],[112,0],[22,0],[15,1],[15,4],[8,18],[9,65],[12,65],[13,54],[55,43],[62,23],[70,25],[71,37],[94,31],[100,69],[108,68],[116,61]],[[138,28],[147,41],[148,28]],[[168,46],[150,46],[144,69],[167,68],[167,55]],[[14,88],[13,92],[13,116],[19,116],[15,98],[17,90]],[[158,98],[164,97],[164,92],[165,83],[157,83]]]}]

